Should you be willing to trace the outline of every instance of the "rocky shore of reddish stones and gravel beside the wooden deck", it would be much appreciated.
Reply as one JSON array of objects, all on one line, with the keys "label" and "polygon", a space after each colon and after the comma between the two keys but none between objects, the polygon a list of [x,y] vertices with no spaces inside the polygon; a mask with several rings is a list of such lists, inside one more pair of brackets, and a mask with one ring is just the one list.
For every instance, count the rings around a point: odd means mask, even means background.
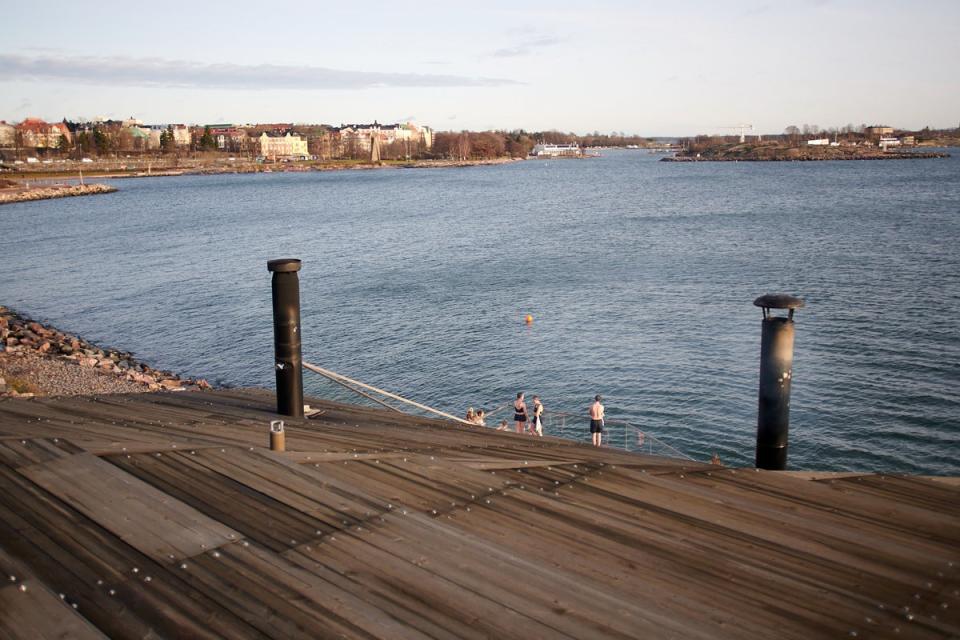
[{"label": "rocky shore of reddish stones and gravel beside the wooden deck", "polygon": [[210,388],[206,380],[154,369],[130,353],[97,347],[0,306],[0,397]]}]

